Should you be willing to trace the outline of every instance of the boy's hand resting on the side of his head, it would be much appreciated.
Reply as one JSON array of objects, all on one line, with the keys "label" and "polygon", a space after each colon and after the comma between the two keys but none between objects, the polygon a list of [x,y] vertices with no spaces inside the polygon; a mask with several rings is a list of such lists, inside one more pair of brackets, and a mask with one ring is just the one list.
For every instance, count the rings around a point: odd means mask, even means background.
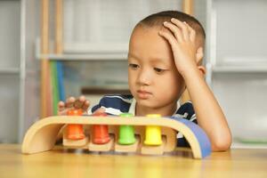
[{"label": "boy's hand resting on the side of his head", "polygon": [[192,67],[197,68],[199,56],[197,56],[195,30],[187,23],[174,18],[171,22],[164,22],[164,27],[158,34],[171,45],[174,62],[180,74],[183,75],[186,73],[185,70],[192,69]]}]

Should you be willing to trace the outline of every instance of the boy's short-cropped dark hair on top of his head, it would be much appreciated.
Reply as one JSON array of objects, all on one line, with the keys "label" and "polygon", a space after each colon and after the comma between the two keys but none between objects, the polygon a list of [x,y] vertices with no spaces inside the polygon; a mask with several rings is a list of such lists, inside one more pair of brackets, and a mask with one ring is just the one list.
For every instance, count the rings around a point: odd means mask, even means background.
[{"label": "boy's short-cropped dark hair on top of his head", "polygon": [[203,40],[203,44],[206,38],[205,30],[202,27],[201,23],[194,17],[179,11],[165,11],[151,14],[150,16],[141,20],[136,27],[145,26],[145,27],[161,27],[163,26],[164,21],[170,21],[172,18],[177,20],[185,21],[196,31],[197,36],[200,35]]}]

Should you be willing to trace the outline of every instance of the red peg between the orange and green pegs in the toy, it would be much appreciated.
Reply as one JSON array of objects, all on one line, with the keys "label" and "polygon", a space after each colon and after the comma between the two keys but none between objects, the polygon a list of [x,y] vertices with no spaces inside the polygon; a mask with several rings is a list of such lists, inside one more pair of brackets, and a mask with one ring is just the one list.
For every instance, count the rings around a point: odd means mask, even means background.
[{"label": "red peg between the orange and green pegs in the toy", "polygon": [[[107,117],[106,113],[93,114],[94,117]],[[105,144],[110,141],[108,125],[93,125],[93,143]]]}]

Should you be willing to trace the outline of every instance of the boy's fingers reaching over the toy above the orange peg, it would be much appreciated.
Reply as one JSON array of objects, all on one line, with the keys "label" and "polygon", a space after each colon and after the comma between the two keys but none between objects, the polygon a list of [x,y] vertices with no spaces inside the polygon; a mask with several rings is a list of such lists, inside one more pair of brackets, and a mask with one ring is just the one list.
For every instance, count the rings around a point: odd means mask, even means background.
[{"label": "boy's fingers reaching over the toy above the orange peg", "polygon": [[66,115],[69,109],[83,109],[87,111],[90,102],[85,100],[85,96],[80,96],[78,99],[69,97],[66,102],[60,101],[58,103],[58,115]]}]

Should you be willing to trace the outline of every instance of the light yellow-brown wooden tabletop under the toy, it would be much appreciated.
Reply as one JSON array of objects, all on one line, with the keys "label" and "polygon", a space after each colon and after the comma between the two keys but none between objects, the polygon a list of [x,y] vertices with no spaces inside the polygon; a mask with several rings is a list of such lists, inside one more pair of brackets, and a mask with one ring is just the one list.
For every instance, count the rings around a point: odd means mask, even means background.
[{"label": "light yellow-brown wooden tabletop under the toy", "polygon": [[193,159],[190,150],[172,155],[54,150],[22,155],[20,145],[0,144],[0,177],[267,177],[267,150],[230,150]]}]

